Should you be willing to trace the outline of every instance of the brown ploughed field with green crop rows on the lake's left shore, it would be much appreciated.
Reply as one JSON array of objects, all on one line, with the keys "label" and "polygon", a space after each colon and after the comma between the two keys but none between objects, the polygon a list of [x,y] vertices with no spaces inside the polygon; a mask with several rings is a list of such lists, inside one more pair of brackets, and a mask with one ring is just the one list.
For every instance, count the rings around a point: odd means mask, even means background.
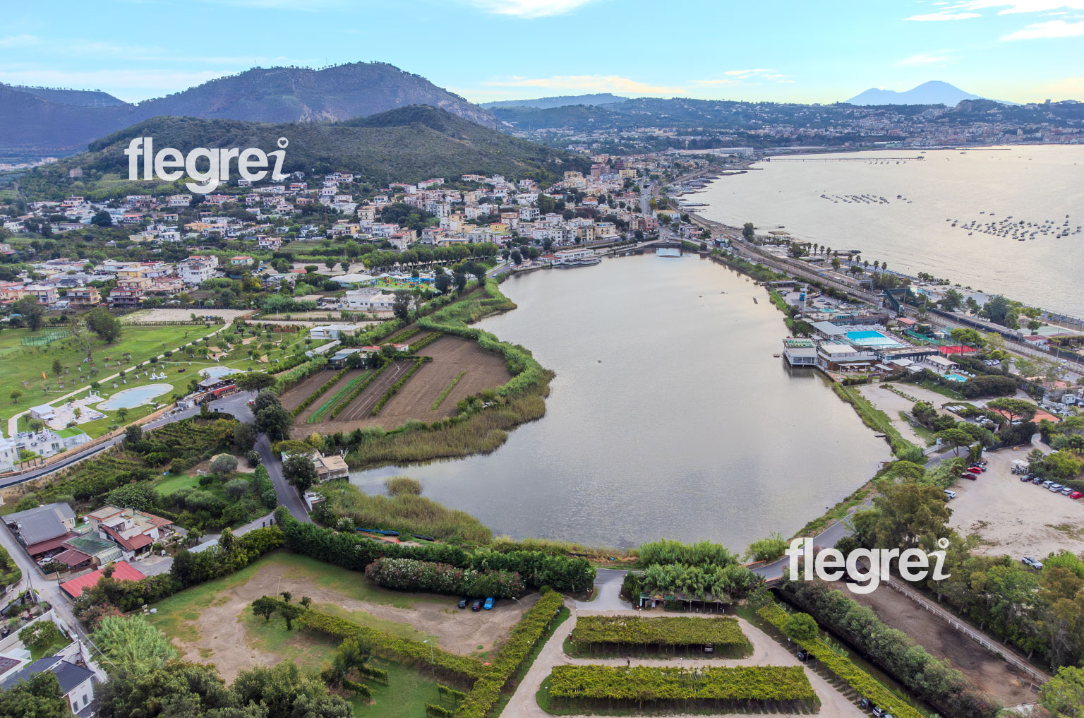
[{"label": "brown ploughed field with green crop rows on the lake's left shore", "polygon": [[[512,379],[504,357],[486,351],[475,342],[457,336],[443,336],[422,349],[421,354],[433,357],[433,361],[422,364],[399,393],[384,406],[378,416],[371,416],[370,412],[387,387],[395,384],[402,372],[410,369],[409,364],[404,364],[395,377],[386,379],[382,375],[354,399],[354,406],[336,416],[335,421],[313,426],[319,426],[321,433],[328,434],[350,432],[360,426],[395,428],[412,419],[431,422],[453,415],[460,399],[482,389],[500,386]],[[391,371],[389,368],[384,374],[390,374]],[[429,407],[460,372],[466,373],[444,398],[440,408],[430,411]],[[380,388],[377,388],[377,385],[382,385]]]}]

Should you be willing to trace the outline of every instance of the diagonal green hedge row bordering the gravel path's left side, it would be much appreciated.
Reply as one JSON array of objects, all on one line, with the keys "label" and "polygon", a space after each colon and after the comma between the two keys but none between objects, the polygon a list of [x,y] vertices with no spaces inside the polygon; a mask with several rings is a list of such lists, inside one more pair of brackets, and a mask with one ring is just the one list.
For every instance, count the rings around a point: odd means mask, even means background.
[{"label": "diagonal green hedge row bordering the gravel path's left side", "polygon": [[460,707],[453,714],[455,718],[487,718],[501,697],[504,684],[516,672],[534,644],[545,633],[546,626],[560,611],[565,597],[556,591],[550,591],[538,600],[531,610],[512,629],[507,643],[498,652],[492,664],[486,667],[485,675],[475,681]]}]

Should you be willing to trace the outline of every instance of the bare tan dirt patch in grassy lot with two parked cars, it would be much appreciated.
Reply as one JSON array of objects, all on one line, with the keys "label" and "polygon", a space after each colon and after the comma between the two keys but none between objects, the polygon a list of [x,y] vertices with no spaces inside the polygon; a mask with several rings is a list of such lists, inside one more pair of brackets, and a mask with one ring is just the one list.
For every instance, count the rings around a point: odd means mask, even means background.
[{"label": "bare tan dirt patch in grassy lot with two parked cars", "polygon": [[[363,580],[359,577],[359,580]],[[194,642],[176,641],[183,661],[215,664],[222,678],[230,682],[242,670],[255,666],[278,663],[278,656],[263,653],[247,641],[245,624],[241,620],[248,612],[248,605],[261,595],[275,595],[279,591],[292,591],[295,595],[308,595],[313,603],[331,603],[346,611],[364,611],[377,618],[409,624],[428,636],[436,636],[438,644],[446,651],[470,655],[479,645],[483,651],[492,650],[520,618],[520,608],[514,601],[500,601],[492,611],[474,613],[469,608],[455,607],[455,598],[425,594],[412,608],[369,603],[350,599],[337,591],[312,582],[306,576],[291,576],[281,566],[269,565],[261,568],[251,579],[218,594],[205,608],[199,618],[191,621],[198,630],[199,639]],[[538,600],[538,594],[522,599],[529,608]],[[318,645],[318,641],[302,636],[295,642]]]}]

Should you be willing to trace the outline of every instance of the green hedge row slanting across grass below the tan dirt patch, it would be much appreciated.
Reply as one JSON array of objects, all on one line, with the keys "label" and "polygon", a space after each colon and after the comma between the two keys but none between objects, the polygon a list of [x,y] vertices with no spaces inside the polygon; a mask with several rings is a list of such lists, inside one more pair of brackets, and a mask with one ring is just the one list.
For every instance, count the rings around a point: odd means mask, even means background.
[{"label": "green hedge row slanting across grass below the tan dirt patch", "polygon": [[305,630],[338,640],[357,638],[371,644],[374,653],[411,665],[427,666],[431,657],[435,668],[462,680],[479,678],[486,671],[481,662],[469,656],[449,653],[431,643],[388,636],[375,628],[359,626],[346,618],[332,616],[314,608],[302,613],[297,619],[297,625]]}]

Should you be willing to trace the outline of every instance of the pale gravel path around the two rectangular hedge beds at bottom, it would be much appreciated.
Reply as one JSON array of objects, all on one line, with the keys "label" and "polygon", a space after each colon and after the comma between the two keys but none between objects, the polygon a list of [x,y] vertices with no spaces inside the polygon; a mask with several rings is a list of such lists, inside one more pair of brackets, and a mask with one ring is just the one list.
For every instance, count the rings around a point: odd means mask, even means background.
[{"label": "pale gravel path around the two rectangular hedge beds at bottom", "polygon": [[[571,606],[570,606],[571,607]],[[594,616],[651,616],[658,615],[662,616],[661,611],[583,611],[583,615],[594,615]],[[691,614],[696,615],[696,614]],[[749,642],[752,643],[752,655],[748,658],[736,658],[736,659],[710,659],[710,661],[682,661],[680,665],[688,667],[700,667],[700,666],[801,666],[802,664],[795,657],[793,653],[787,651],[785,648],[779,645],[778,642],[773,640],[770,636],[765,634],[756,626],[751,625],[744,618],[738,618],[738,623],[741,625],[741,630],[745,631],[746,637],[749,638]],[[589,664],[603,664],[610,666],[623,666],[625,665],[624,658],[609,658],[609,659],[592,659],[592,658],[569,658],[565,655],[563,650],[563,644],[568,634],[576,627],[576,615],[562,624],[554,634],[550,638],[550,641],[543,646],[542,652],[539,657],[534,661],[534,665],[531,666],[530,670],[527,671],[527,676],[516,688],[516,692],[513,694],[512,700],[508,701],[508,705],[504,708],[501,714],[502,718],[546,718],[550,716],[546,711],[539,707],[538,701],[534,694],[542,687],[542,681],[550,675],[550,671],[554,666],[557,665],[589,665]],[[640,658],[633,659],[637,666],[675,666],[679,665],[676,659],[655,659],[655,658]],[[816,691],[817,697],[821,698],[821,715],[830,716],[830,718],[862,718],[866,716],[865,713],[860,710],[857,706],[851,703],[842,694],[840,694],[831,684],[825,679],[821,678],[816,672],[805,668],[805,675],[810,679],[810,683],[813,685],[813,690]],[[797,718],[798,715],[802,714],[777,714],[780,718]],[[674,716],[673,718],[687,718],[685,716]]]}]

